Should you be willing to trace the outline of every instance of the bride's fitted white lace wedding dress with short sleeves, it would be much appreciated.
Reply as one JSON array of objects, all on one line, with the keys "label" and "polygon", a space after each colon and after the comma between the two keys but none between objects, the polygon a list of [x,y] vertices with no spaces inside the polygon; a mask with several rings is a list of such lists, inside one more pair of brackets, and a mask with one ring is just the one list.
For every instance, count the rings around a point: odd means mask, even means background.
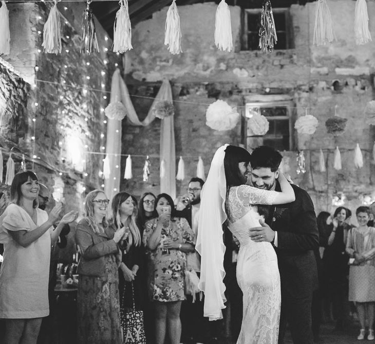
[{"label": "bride's fitted white lace wedding dress with short sleeves", "polygon": [[248,185],[231,187],[228,227],[238,238],[237,281],[243,293],[243,318],[237,344],[277,343],[280,317],[280,276],[276,253],[268,242],[253,242],[249,229],[259,227],[254,204],[272,204],[274,191]]}]

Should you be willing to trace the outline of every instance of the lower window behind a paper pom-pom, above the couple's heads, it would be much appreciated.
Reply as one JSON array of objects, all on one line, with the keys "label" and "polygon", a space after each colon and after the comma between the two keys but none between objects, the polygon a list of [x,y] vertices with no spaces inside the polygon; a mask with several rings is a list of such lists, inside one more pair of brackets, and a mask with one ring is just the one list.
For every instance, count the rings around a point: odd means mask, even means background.
[{"label": "lower window behind a paper pom-pom, above the couple's heads", "polygon": [[258,136],[254,135],[250,128],[250,121],[247,121],[248,148],[266,145],[280,151],[293,150],[292,101],[250,102],[245,108],[246,118],[258,113],[265,116],[269,123],[268,132],[263,136]]}]

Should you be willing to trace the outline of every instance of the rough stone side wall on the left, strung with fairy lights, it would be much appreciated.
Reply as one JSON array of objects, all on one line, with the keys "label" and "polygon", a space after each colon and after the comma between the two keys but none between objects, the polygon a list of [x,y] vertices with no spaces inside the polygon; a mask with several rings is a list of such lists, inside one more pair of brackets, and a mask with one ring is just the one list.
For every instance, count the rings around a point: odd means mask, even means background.
[{"label": "rough stone side wall on the left, strung with fairy lights", "polygon": [[7,5],[11,51],[0,61],[4,166],[13,148],[16,171],[20,170],[21,153],[25,153],[27,168],[36,172],[55,198],[65,199],[65,211],[75,209],[82,214],[87,192],[103,183],[104,156],[85,152],[104,151],[103,109],[109,101],[105,91],[110,89],[109,76],[121,59],[104,50],[112,42],[105,39],[98,22],[100,53],[80,53],[83,3],[58,5],[63,15],[63,49],[58,55],[45,54],[42,47],[50,3]]}]

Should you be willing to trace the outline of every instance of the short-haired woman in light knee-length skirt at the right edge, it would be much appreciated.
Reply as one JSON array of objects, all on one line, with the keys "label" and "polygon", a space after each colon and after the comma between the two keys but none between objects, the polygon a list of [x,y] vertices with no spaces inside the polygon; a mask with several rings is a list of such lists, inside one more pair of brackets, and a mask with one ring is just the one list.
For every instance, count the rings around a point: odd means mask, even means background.
[{"label": "short-haired woman in light knee-length skirt at the right edge", "polygon": [[365,338],[366,318],[368,340],[374,339],[373,320],[375,306],[375,228],[368,227],[370,209],[359,207],[355,212],[358,227],[348,233],[346,252],[354,259],[349,269],[349,301],[357,306],[361,331],[357,339]]}]

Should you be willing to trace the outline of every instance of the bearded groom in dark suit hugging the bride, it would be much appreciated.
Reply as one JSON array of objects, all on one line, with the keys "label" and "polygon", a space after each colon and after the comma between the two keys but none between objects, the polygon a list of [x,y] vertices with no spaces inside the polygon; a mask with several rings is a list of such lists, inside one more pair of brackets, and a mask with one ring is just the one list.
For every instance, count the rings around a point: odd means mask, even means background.
[{"label": "bearded groom in dark suit hugging the bride", "polygon": [[[251,184],[264,190],[280,191],[277,182],[282,155],[271,147],[260,146],[251,154]],[[273,244],[280,271],[282,306],[278,344],[284,342],[289,323],[293,342],[313,342],[311,330],[312,292],[317,288],[313,250],[319,245],[314,205],[308,193],[292,184],[295,201],[267,206],[266,223],[250,229],[255,242]]]}]

